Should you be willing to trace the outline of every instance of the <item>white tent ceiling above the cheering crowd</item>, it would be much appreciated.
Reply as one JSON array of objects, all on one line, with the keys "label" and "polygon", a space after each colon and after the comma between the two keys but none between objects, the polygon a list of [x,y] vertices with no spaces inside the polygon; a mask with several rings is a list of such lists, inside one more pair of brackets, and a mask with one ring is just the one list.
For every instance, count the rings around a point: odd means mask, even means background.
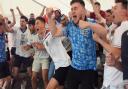
[{"label": "white tent ceiling above the cheering crowd", "polygon": [[[67,14],[70,11],[70,1],[71,0],[36,0],[46,6],[50,7],[57,7],[62,10],[62,13]],[[88,10],[92,10],[92,7],[88,0],[84,0],[86,8]],[[106,10],[112,7],[114,0],[97,0],[101,3],[102,9]],[[10,15],[10,8],[13,8],[15,13],[18,15],[16,11],[16,6],[19,6],[21,11],[25,15],[29,15],[31,12],[35,13],[36,15],[39,15],[42,7],[32,0],[0,0],[0,6],[2,7],[2,10],[4,15]],[[1,8],[0,7],[0,8]],[[0,11],[1,12],[1,11]]]}]

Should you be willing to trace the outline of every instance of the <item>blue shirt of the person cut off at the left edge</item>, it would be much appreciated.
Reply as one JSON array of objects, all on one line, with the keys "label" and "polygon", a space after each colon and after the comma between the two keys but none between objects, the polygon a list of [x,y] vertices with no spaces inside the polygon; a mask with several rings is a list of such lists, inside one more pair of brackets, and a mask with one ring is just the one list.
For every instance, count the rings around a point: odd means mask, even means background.
[{"label": "blue shirt of the person cut off at the left edge", "polygon": [[0,33],[0,62],[6,61],[5,35]]}]

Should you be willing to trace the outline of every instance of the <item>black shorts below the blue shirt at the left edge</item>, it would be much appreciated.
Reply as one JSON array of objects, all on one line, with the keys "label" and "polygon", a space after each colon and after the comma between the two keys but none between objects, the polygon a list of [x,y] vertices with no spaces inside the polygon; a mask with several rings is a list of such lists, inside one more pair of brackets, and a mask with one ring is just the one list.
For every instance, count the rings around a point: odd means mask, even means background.
[{"label": "black shorts below the blue shirt at the left edge", "polygon": [[8,62],[0,62],[0,79],[10,76]]}]

